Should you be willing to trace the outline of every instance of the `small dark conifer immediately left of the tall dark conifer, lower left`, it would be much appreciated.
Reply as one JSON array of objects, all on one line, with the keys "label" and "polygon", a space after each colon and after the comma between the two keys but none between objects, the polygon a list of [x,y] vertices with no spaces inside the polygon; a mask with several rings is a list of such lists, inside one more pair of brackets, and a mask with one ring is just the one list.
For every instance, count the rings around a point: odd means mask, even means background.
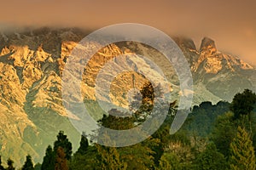
[{"label": "small dark conifer immediately left of the tall dark conifer, lower left", "polygon": [[55,153],[49,145],[45,151],[42,170],[53,170],[55,168]]}]

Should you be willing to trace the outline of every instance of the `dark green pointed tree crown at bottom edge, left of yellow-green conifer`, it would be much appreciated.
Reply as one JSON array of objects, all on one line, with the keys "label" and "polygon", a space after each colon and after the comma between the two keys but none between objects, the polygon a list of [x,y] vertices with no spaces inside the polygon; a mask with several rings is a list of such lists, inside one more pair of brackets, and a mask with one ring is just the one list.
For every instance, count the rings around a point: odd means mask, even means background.
[{"label": "dark green pointed tree crown at bottom edge, left of yellow-green conifer", "polygon": [[201,170],[220,170],[227,169],[228,164],[224,155],[219,153],[215,144],[207,144],[206,150],[201,152],[195,160],[195,169]]}]

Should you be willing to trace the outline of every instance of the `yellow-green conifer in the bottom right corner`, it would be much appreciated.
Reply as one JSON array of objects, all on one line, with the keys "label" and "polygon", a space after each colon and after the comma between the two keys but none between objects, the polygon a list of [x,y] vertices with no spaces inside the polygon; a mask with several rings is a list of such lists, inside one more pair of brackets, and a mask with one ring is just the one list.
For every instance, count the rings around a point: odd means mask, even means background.
[{"label": "yellow-green conifer in the bottom right corner", "polygon": [[230,168],[254,170],[255,155],[253,142],[245,128],[238,127],[235,139],[230,144]]}]

